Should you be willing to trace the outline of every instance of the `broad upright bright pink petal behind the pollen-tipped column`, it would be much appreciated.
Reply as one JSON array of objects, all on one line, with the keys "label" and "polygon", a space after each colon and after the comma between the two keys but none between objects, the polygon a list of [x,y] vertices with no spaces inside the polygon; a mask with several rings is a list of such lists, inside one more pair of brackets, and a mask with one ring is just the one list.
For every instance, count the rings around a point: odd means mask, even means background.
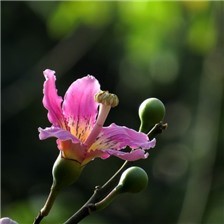
[{"label": "broad upright bright pink petal behind the pollen-tipped column", "polygon": [[100,91],[100,84],[93,76],[77,79],[68,88],[62,110],[71,133],[82,142],[88,137],[97,116],[98,103],[94,96]]}]

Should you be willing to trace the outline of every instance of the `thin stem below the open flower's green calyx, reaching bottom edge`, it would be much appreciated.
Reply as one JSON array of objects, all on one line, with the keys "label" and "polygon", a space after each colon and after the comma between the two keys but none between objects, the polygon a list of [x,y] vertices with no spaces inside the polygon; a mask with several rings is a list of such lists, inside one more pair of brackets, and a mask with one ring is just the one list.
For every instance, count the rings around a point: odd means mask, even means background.
[{"label": "thin stem below the open flower's green calyx, reaching bottom edge", "polygon": [[59,193],[59,190],[58,188],[55,187],[55,185],[52,185],[51,187],[51,191],[50,191],[50,194],[47,198],[47,201],[44,205],[44,207],[40,210],[38,216],[35,218],[33,224],[39,224],[41,222],[41,220],[48,215],[48,213],[50,212],[53,204],[54,204],[54,201],[57,197]]}]

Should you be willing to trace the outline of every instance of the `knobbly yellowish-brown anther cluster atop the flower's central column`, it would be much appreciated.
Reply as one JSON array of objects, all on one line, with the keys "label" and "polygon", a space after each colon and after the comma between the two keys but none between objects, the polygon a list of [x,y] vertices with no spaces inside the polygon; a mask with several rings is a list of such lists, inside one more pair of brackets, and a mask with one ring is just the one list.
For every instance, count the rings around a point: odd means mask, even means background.
[{"label": "knobbly yellowish-brown anther cluster atop the flower's central column", "polygon": [[116,107],[119,103],[117,95],[108,91],[100,91],[95,95],[95,101],[106,106]]}]

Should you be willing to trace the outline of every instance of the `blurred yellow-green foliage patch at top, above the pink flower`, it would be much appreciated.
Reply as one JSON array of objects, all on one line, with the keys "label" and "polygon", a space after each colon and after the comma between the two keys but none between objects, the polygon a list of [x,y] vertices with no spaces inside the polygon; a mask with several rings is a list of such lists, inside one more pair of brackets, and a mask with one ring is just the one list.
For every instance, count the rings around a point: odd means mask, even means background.
[{"label": "blurred yellow-green foliage patch at top, above the pink flower", "polygon": [[110,21],[110,4],[90,1],[62,1],[48,17],[52,37],[61,38],[79,26],[102,27]]}]

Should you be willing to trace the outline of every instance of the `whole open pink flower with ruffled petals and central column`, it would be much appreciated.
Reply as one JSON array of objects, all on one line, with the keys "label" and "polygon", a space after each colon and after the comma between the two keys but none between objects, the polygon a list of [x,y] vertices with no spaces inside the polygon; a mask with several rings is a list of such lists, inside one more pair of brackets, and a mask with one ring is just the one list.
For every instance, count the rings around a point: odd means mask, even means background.
[{"label": "whole open pink flower with ruffled petals and central column", "polygon": [[[145,150],[155,146],[155,139],[150,141],[146,134],[125,126],[103,127],[111,107],[118,104],[116,95],[101,91],[97,79],[88,75],[73,82],[63,100],[57,94],[54,74],[44,71],[43,105],[52,126],[38,129],[41,140],[56,137],[61,156],[81,165],[111,155],[129,161],[148,157]],[[122,151],[127,146],[132,150]]]}]

